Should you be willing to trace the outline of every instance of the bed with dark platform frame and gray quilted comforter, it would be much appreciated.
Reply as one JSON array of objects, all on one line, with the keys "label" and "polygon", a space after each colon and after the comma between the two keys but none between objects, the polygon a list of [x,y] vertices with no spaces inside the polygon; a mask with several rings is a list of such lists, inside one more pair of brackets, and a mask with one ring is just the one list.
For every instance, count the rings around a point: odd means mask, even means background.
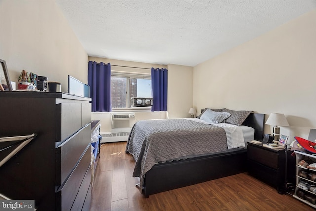
[{"label": "bed with dark platform frame and gray quilted comforter", "polygon": [[[225,111],[235,112],[216,112]],[[250,140],[260,140],[265,115],[249,113],[240,127],[253,128]],[[239,141],[228,149],[223,142],[228,138],[227,129],[219,125],[230,124],[203,124],[190,119],[139,121],[133,126],[126,153],[134,156],[133,176],[140,177],[138,186],[145,197],[246,171],[246,146]]]}]

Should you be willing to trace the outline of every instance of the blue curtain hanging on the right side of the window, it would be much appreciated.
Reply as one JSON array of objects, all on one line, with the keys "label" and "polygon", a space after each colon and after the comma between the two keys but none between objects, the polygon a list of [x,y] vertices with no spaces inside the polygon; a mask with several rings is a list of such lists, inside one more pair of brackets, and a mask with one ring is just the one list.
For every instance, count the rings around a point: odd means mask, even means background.
[{"label": "blue curtain hanging on the right side of the window", "polygon": [[152,68],[151,78],[153,91],[152,111],[167,111],[168,70],[165,68]]}]

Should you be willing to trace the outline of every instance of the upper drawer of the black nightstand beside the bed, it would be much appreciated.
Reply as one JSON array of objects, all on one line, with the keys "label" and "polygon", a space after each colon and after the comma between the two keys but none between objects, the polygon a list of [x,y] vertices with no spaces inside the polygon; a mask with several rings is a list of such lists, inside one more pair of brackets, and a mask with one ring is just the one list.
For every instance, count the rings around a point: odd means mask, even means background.
[{"label": "upper drawer of the black nightstand beside the bed", "polygon": [[256,161],[272,169],[278,169],[277,152],[248,145],[247,154],[248,158],[253,161]]}]

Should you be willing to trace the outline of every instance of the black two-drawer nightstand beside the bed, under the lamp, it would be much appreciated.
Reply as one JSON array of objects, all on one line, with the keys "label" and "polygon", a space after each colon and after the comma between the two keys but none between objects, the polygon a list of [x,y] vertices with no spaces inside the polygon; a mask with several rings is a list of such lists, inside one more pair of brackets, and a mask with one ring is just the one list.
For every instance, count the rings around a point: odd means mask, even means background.
[{"label": "black two-drawer nightstand beside the bed, under the lamp", "polygon": [[247,167],[249,175],[285,193],[285,149],[270,149],[248,142]]}]

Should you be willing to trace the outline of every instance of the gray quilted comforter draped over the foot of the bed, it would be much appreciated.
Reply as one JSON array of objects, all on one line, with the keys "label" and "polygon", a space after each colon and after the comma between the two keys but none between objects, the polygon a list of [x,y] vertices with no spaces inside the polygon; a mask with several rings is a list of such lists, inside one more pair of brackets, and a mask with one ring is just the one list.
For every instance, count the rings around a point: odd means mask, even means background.
[{"label": "gray quilted comforter draped over the foot of the bed", "polygon": [[140,177],[140,191],[145,173],[157,162],[225,150],[224,129],[187,119],[138,121],[126,146],[126,152],[135,159],[133,177]]}]

